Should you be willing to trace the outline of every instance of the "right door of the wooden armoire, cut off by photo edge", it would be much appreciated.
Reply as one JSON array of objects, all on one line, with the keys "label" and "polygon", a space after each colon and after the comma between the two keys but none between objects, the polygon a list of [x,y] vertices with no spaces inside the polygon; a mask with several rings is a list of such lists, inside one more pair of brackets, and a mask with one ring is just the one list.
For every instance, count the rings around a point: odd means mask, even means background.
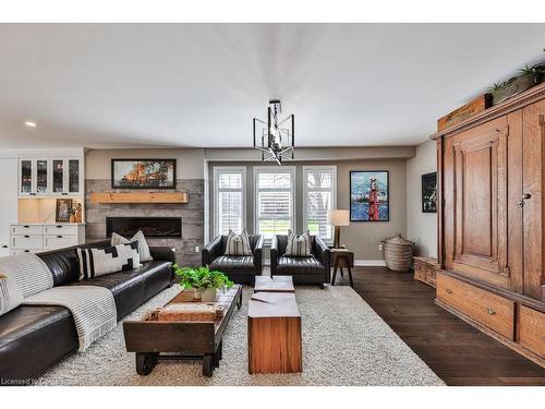
[{"label": "right door of the wooden armoire, cut off by photo edge", "polygon": [[545,101],[523,110],[523,195],[520,203],[524,219],[524,294],[545,301],[544,201]]}]

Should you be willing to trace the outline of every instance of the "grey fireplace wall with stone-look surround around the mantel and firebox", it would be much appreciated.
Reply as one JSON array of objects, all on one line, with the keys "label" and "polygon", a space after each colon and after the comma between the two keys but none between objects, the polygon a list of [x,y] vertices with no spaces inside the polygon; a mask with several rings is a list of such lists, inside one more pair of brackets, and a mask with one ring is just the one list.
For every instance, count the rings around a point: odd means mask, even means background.
[{"label": "grey fireplace wall with stone-look surround around the mantel and firebox", "polygon": [[[177,191],[189,193],[185,204],[105,204],[92,203],[92,192],[111,192],[112,158],[175,158]],[[149,239],[150,245],[177,249],[180,265],[199,265],[201,253],[195,246],[204,243],[204,180],[203,149],[96,149],[86,155],[85,203],[86,241],[106,238],[108,216],[182,217],[181,239]]]}]

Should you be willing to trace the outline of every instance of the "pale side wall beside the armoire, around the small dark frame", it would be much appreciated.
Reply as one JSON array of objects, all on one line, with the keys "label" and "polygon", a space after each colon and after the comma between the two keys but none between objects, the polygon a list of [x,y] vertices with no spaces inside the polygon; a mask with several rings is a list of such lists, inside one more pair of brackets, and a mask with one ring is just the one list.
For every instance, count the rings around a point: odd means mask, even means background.
[{"label": "pale side wall beside the armoire, around the small dark frame", "polygon": [[416,147],[407,161],[407,236],[415,242],[417,255],[437,256],[437,214],[422,213],[422,175],[437,170],[435,141]]}]

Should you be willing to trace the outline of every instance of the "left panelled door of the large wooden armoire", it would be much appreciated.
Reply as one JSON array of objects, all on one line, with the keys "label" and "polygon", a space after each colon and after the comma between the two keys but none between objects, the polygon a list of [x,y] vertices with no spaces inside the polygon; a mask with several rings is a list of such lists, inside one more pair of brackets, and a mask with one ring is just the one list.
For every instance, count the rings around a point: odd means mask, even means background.
[{"label": "left panelled door of the large wooden armoire", "polygon": [[[513,118],[520,127],[520,118]],[[453,241],[450,269],[511,288],[508,243],[508,175],[521,175],[509,158],[508,118],[452,136]],[[513,168],[509,168],[509,165]],[[446,191],[448,189],[446,188]],[[447,195],[446,195],[447,196]],[[449,266],[447,266],[449,268]]]}]

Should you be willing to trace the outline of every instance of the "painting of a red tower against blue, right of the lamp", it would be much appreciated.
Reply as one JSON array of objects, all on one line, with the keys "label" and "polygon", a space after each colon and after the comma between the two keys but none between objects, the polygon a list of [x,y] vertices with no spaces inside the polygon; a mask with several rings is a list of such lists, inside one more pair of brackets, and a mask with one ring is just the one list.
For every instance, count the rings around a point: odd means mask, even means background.
[{"label": "painting of a red tower against blue, right of the lamp", "polygon": [[350,172],[350,220],[388,221],[390,197],[387,170]]}]

